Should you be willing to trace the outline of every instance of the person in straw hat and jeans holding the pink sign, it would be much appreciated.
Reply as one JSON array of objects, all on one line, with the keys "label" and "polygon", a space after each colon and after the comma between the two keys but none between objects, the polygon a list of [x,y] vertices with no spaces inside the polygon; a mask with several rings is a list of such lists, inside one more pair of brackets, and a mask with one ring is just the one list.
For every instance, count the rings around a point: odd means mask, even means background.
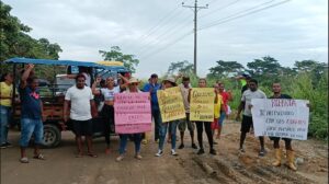
[{"label": "person in straw hat and jeans holding the pink sign", "polygon": [[[136,78],[131,78],[128,80],[128,88],[123,93],[140,93],[138,90],[139,81]],[[140,156],[140,143],[141,143],[141,133],[136,134],[120,134],[120,156],[116,158],[116,161],[122,161],[124,159],[124,154],[126,152],[126,146],[128,138],[131,137],[135,143],[135,158],[140,160],[143,157]]]}]

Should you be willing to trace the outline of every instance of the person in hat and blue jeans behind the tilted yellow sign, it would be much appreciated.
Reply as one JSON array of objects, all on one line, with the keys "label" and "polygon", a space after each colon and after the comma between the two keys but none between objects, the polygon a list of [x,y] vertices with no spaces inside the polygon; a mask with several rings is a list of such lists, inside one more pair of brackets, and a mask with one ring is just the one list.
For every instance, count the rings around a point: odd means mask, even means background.
[{"label": "person in hat and blue jeans behind the tilted yellow sign", "polygon": [[[168,78],[168,79],[163,80],[163,87],[164,87],[164,90],[169,89],[169,88],[177,87],[175,80],[173,78]],[[175,138],[177,138],[175,131],[177,131],[177,126],[179,124],[179,120],[166,122],[164,117],[161,117],[161,118],[163,118],[163,122],[161,120],[162,123],[160,124],[159,150],[156,153],[156,157],[161,157],[162,153],[163,153],[163,146],[164,146],[164,139],[166,139],[168,127],[169,127],[169,133],[170,133],[170,137],[171,137],[171,154],[172,156],[178,156],[178,153],[175,152]]]}]

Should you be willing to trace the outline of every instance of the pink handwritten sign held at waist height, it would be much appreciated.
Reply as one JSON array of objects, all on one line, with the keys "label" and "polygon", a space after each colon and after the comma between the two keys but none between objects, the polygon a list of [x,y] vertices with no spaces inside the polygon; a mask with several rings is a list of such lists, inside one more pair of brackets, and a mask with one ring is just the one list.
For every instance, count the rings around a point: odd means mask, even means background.
[{"label": "pink handwritten sign held at waist height", "polygon": [[151,130],[149,93],[114,95],[115,133],[135,134]]}]

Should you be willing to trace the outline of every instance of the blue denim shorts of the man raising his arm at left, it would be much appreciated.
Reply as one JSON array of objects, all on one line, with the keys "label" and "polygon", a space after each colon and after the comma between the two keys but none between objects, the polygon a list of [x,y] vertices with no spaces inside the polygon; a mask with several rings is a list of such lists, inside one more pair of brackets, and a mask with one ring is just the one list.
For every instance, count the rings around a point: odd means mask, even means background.
[{"label": "blue denim shorts of the man raising his arm at left", "polygon": [[44,124],[41,118],[21,118],[21,140],[20,145],[23,148],[29,146],[31,136],[34,136],[34,143],[43,145],[44,142]]}]

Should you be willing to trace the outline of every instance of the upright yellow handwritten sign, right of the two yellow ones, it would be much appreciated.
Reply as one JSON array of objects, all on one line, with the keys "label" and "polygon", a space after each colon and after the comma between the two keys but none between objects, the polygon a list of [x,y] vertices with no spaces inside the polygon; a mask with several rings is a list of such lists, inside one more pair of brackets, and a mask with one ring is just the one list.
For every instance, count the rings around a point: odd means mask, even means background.
[{"label": "upright yellow handwritten sign, right of the two yellow ones", "polygon": [[190,119],[197,122],[214,122],[214,89],[193,88],[190,95]]}]

